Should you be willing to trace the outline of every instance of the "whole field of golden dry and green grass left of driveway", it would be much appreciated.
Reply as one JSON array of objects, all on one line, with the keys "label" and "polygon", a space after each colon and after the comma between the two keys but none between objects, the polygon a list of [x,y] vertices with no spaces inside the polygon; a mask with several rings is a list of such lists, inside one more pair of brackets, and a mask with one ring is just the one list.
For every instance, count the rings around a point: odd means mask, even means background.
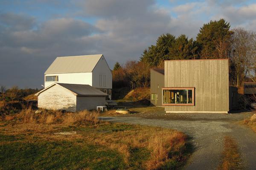
[{"label": "whole field of golden dry and green grass left of driveway", "polygon": [[[76,132],[60,135],[60,132]],[[100,122],[97,113],[31,110],[2,117],[0,169],[177,169],[187,138],[160,127]]]}]

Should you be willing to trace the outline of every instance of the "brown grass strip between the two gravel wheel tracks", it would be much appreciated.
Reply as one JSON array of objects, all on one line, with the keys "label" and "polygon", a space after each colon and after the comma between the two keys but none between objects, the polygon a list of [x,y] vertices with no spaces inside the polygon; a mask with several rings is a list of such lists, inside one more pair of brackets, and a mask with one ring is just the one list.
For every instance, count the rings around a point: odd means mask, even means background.
[{"label": "brown grass strip between the two gravel wheel tracks", "polygon": [[218,170],[243,170],[239,148],[237,143],[230,136],[224,139],[224,152],[221,164]]}]

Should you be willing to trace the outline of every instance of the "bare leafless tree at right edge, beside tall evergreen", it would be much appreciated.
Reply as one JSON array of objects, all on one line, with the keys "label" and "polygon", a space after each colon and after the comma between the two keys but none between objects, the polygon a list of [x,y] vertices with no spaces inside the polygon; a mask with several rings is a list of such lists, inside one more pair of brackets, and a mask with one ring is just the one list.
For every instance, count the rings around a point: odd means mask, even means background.
[{"label": "bare leafless tree at right edge, beside tall evergreen", "polygon": [[246,76],[255,76],[256,71],[256,35],[244,28],[233,29],[231,37],[231,81],[241,86]]}]

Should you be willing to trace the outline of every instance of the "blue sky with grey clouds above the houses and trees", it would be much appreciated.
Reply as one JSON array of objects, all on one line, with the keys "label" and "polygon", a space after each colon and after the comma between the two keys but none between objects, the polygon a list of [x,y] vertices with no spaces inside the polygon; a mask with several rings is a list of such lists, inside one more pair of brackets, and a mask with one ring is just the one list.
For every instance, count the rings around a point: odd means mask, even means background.
[{"label": "blue sky with grey clouds above the houses and trees", "polygon": [[256,0],[0,0],[0,85],[42,88],[60,56],[104,54],[112,69],[221,18],[256,31]]}]

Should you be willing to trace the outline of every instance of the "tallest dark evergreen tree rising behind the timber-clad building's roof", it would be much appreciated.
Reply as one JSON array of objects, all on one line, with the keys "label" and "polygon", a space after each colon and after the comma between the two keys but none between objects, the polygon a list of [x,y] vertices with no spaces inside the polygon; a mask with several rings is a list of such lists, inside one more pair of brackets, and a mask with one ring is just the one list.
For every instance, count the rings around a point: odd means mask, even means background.
[{"label": "tallest dark evergreen tree rising behind the timber-clad building's roof", "polygon": [[210,21],[200,28],[197,42],[203,59],[228,58],[230,53],[230,24],[224,19]]}]

